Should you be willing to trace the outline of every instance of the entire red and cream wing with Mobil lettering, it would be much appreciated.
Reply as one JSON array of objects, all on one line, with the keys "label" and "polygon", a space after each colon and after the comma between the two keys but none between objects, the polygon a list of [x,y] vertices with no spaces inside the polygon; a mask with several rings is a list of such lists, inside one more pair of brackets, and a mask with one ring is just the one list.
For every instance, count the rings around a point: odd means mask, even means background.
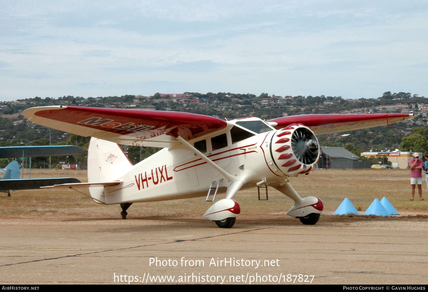
[{"label": "entire red and cream wing with Mobil lettering", "polygon": [[47,106],[29,108],[23,114],[33,123],[84,137],[163,148],[179,143],[177,135],[190,140],[227,126],[215,117],[175,111]]}]

